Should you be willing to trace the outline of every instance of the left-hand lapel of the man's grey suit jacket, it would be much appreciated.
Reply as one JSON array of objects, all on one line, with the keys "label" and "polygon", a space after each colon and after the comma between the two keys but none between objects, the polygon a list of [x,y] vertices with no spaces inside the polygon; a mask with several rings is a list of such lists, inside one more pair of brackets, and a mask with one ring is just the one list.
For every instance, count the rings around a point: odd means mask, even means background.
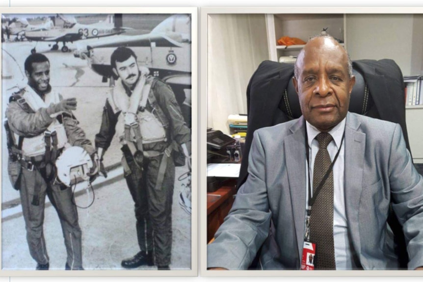
[{"label": "left-hand lapel of the man's grey suit jacket", "polygon": [[[306,175],[305,175],[305,121],[300,117],[297,123],[290,128],[292,134],[285,141],[285,163],[292,201],[295,234],[300,257],[304,239],[304,220],[306,206]],[[304,152],[302,154],[301,152]],[[299,154],[300,153],[300,154]]]}]

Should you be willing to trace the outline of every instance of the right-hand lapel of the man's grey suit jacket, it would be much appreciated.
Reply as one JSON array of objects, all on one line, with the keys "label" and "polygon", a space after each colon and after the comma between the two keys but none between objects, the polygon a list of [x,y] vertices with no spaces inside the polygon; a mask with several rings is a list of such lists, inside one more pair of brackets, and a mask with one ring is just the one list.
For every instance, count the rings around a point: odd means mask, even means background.
[{"label": "right-hand lapel of the man's grey suit jacket", "polygon": [[358,131],[360,122],[350,113],[345,125],[345,212],[356,253],[360,253],[359,205],[362,190],[366,134]]}]

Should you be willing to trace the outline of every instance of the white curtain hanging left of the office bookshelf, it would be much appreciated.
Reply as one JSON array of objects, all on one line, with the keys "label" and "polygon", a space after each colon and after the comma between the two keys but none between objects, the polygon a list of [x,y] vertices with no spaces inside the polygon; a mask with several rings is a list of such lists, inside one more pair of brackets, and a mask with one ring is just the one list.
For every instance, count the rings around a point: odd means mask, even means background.
[{"label": "white curtain hanging left of the office bookshelf", "polygon": [[248,81],[268,58],[264,14],[209,15],[208,127],[230,133],[228,115],[247,113]]}]

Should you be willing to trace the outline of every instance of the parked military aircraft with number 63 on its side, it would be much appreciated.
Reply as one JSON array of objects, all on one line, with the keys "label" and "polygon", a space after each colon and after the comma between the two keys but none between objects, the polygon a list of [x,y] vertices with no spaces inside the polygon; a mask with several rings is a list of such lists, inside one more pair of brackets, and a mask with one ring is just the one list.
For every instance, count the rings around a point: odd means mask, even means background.
[{"label": "parked military aircraft with number 63 on its side", "polygon": [[[52,50],[58,50],[58,43],[62,42],[63,47],[61,51],[67,52],[69,48],[66,46],[66,42],[73,43],[81,39],[121,34],[127,29],[132,29],[122,27],[122,14],[107,15],[106,21],[100,21],[90,25],[79,24],[74,17],[65,16],[63,14],[58,14],[57,17],[61,18],[64,22],[62,28],[26,32],[26,38],[32,41],[55,42],[56,44],[53,45]],[[31,52],[35,53],[35,48],[32,49]]]}]

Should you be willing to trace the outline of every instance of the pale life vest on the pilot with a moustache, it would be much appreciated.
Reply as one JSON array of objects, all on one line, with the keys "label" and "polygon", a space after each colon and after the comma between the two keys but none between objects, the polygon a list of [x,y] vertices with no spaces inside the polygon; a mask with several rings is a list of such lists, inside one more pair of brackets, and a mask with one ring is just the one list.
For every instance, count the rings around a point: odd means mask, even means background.
[{"label": "pale life vest on the pilot with a moustache", "polygon": [[[122,80],[119,78],[116,82],[116,86],[109,91],[107,97],[108,103],[114,113],[120,111],[115,129],[122,145],[128,142],[137,143],[139,138],[141,138],[142,144],[167,141],[167,124],[163,121],[164,118],[160,117],[158,113],[161,112],[161,109],[153,108],[153,110],[150,111],[146,108],[147,101],[149,101],[150,105],[157,104],[155,94],[151,89],[155,81],[154,77],[147,77],[146,79],[136,113],[138,124],[134,125],[135,130],[129,128],[130,125],[125,125],[125,115],[130,106],[130,97],[125,91]],[[142,110],[139,110],[140,108]],[[138,136],[139,134],[140,136]]]}]

